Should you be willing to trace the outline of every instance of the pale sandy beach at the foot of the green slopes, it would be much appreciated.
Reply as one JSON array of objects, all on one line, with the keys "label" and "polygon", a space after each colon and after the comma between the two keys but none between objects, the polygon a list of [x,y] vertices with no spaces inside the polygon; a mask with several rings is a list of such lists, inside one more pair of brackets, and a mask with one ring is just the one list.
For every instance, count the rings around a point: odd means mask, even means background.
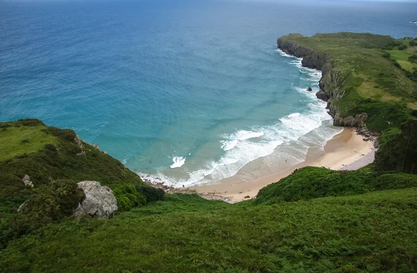
[{"label": "pale sandy beach at the foot of the green slopes", "polygon": [[323,149],[309,149],[304,162],[284,171],[262,176],[256,181],[240,181],[232,176],[222,179],[215,185],[199,185],[191,189],[202,195],[222,196],[232,201],[252,199],[265,185],[275,183],[291,174],[295,169],[306,166],[326,167],[329,169],[359,169],[373,162],[375,148],[373,142],[363,140],[355,129],[345,128],[341,133],[327,141]]}]

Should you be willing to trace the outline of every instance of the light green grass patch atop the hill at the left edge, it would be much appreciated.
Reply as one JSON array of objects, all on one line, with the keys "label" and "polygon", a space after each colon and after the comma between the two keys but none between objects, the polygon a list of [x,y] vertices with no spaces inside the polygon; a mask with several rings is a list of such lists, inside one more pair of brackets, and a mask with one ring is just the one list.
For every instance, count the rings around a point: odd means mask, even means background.
[{"label": "light green grass patch atop the hill at the left edge", "polygon": [[9,126],[0,127],[0,161],[31,154],[43,149],[46,144],[56,144],[54,135],[43,130],[43,124],[22,126],[19,122],[11,122]]}]

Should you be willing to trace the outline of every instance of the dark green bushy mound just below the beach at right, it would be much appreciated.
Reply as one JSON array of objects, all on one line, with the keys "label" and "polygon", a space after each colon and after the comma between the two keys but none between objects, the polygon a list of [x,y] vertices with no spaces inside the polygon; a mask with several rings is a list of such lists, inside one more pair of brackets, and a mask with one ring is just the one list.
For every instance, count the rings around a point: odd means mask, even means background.
[{"label": "dark green bushy mound just below the beach at right", "polygon": [[412,187],[417,187],[417,175],[304,167],[295,170],[279,183],[262,188],[254,204],[361,195],[366,192]]}]

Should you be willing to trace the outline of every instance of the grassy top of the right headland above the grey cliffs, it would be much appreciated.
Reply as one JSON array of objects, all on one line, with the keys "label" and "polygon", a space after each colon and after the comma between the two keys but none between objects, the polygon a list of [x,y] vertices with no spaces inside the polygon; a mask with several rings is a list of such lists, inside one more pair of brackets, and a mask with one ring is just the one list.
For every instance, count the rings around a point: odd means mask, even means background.
[{"label": "grassy top of the right headland above the grey cliffs", "polygon": [[[293,44],[323,53],[335,72],[332,79],[341,88],[338,106],[342,117],[368,113],[366,124],[373,131],[398,127],[416,105],[417,82],[384,58],[382,48],[393,38],[369,33],[299,34],[283,36]],[[410,49],[411,50],[411,49]]]}]

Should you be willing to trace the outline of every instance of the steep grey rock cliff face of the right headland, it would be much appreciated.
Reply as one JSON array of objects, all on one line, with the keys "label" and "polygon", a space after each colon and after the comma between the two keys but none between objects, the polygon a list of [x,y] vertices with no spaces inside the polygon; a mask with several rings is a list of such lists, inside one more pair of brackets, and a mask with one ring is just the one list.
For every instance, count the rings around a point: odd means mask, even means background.
[{"label": "steep grey rock cliff face of the right headland", "polygon": [[[278,48],[287,54],[296,56],[302,59],[302,66],[322,71],[322,78],[320,79],[319,87],[327,95],[327,108],[329,115],[333,117],[333,124],[335,126],[359,127],[363,126],[363,121],[368,116],[366,113],[355,116],[341,117],[338,111],[337,100],[345,95],[343,89],[343,81],[345,79],[344,72],[341,69],[333,68],[330,61],[325,54],[313,51],[312,49],[302,47],[294,44],[291,41],[279,38],[277,40]],[[327,100],[320,94],[320,99]]]}]

